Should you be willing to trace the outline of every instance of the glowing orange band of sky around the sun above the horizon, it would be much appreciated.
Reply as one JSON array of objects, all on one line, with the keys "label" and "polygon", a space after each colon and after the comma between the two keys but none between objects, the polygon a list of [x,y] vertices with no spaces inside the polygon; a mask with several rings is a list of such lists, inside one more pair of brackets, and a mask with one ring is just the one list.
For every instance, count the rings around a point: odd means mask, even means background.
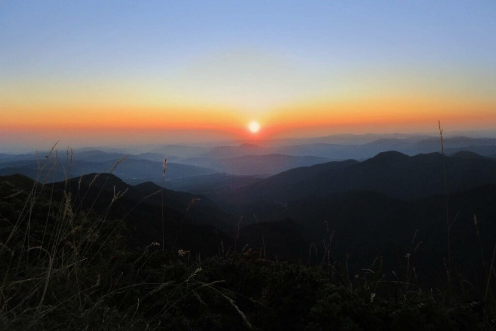
[{"label": "glowing orange band of sky around the sun above the horizon", "polygon": [[[368,98],[330,100],[284,105],[252,115],[227,107],[115,107],[98,105],[5,106],[1,128],[5,132],[212,131],[233,138],[272,138],[333,132],[426,132],[437,120],[452,130],[496,127],[496,103],[490,100],[430,100],[412,98]],[[248,132],[250,120],[260,132]]]}]

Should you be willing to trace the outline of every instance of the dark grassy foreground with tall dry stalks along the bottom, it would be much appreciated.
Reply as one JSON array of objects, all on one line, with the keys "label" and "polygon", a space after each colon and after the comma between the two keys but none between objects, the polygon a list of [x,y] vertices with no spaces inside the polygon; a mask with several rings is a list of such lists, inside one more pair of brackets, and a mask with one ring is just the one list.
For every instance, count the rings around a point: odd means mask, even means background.
[{"label": "dark grassy foreground with tall dry stalks along the bottom", "polygon": [[[442,130],[440,134],[442,138]],[[55,148],[44,164],[40,162],[40,170],[56,166]],[[165,169],[164,165],[164,176]],[[126,215],[108,219],[113,204],[125,197],[125,191],[114,189],[104,210],[94,209],[96,199],[102,199],[100,195],[83,210],[81,203],[76,205],[77,197],[87,198],[87,192],[80,192],[80,185],[74,197],[66,190],[58,201],[54,200],[53,188],[46,184],[46,178],[31,187],[0,182],[2,330],[495,327],[491,280],[496,246],[486,268],[483,300],[476,301],[463,290],[463,277],[459,275],[461,285],[457,289],[451,274],[449,218],[447,286],[435,289],[423,287],[416,273],[416,252],[422,244],[416,241],[416,233],[401,273],[385,271],[378,257],[350,274],[347,260],[344,265],[331,260],[334,232],[328,228],[323,254],[319,256],[312,243],[308,263],[267,260],[263,233],[263,255],[246,246],[241,252],[234,247],[226,253],[223,243],[219,243],[221,253],[201,261],[199,254],[191,259],[188,251],[164,250],[164,242],[141,249],[129,247]],[[185,217],[194,202],[188,205]],[[474,224],[478,229],[476,218]],[[173,248],[178,236],[179,232]],[[314,263],[310,263],[312,260]]]}]

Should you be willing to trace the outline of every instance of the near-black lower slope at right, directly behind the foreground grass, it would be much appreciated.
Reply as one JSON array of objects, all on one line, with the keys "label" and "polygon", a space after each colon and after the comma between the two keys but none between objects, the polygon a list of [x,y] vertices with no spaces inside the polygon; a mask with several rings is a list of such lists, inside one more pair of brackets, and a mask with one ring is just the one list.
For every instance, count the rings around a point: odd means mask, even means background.
[{"label": "near-black lower slope at right, directly behind the foreground grass", "polygon": [[[474,215],[477,217],[482,251],[488,261],[495,244],[494,201],[496,185],[486,185],[448,196],[453,264],[466,273],[477,270],[475,274],[480,276],[479,281],[483,281],[485,273],[481,268],[483,264]],[[413,254],[419,245],[415,253],[416,270],[434,277],[437,272],[440,274],[445,271],[442,263],[447,247],[445,206],[445,197],[442,195],[403,201],[379,193],[358,191],[335,193],[325,198],[288,201],[284,205],[257,202],[245,206],[242,214],[246,216],[245,222],[255,222],[250,217],[255,214],[260,224],[290,217],[302,227],[302,230],[298,230],[302,235],[298,240],[295,239],[293,252],[297,252],[302,246],[310,248],[311,243],[315,243],[317,262],[323,259],[323,242],[328,244],[334,232],[331,261],[347,261],[350,270],[365,268],[378,256],[384,257],[386,270],[404,267],[407,262],[406,253]],[[264,227],[266,243],[266,238],[278,238],[281,231],[290,231],[283,227],[285,225],[278,223],[270,228]],[[254,232],[250,243],[259,238],[256,242],[259,245],[261,233],[262,231],[258,231],[258,234]],[[305,240],[306,246],[301,244]],[[422,243],[419,244],[420,242]],[[258,246],[253,248],[259,249]],[[282,256],[288,250],[279,250],[277,245],[270,246],[270,249],[272,251],[268,248],[266,251],[270,256]],[[307,254],[308,252],[306,250]],[[311,254],[312,259],[315,259],[314,252]]]}]

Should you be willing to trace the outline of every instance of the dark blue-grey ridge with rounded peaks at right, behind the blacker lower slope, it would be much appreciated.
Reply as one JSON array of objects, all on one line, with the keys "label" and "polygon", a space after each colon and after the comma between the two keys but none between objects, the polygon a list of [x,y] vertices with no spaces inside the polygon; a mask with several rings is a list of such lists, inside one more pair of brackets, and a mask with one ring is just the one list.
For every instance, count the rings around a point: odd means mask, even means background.
[{"label": "dark blue-grey ridge with rounded peaks at right, behind the blacker lower slope", "polygon": [[418,199],[443,192],[444,166],[448,192],[496,183],[496,162],[489,158],[446,157],[439,153],[408,156],[391,151],[360,163],[331,165],[337,168],[326,169],[326,164],[322,164],[269,177],[240,189],[233,199],[286,201],[353,190]]}]

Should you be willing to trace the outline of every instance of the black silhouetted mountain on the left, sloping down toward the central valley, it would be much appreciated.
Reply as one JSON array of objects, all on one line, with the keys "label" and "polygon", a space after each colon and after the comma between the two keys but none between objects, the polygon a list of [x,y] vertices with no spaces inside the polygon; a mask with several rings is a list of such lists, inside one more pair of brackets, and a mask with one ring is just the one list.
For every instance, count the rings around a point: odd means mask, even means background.
[{"label": "black silhouetted mountain on the left, sloping down toward the central valley", "polygon": [[[133,245],[144,247],[152,242],[161,243],[163,225],[168,250],[181,248],[208,256],[216,254],[221,240],[226,244],[230,242],[230,237],[218,228],[234,221],[204,197],[190,204],[190,199],[198,196],[165,190],[162,208],[161,193],[147,197],[150,191],[160,190],[159,187],[153,187],[153,184],[143,184],[136,188],[114,175],[95,176],[96,174],[91,174],[70,179],[67,183],[35,186],[33,180],[23,175],[11,175],[0,177],[0,183],[25,192],[35,188],[37,195],[44,195],[54,203],[62,201],[66,197],[63,192],[66,191],[73,212],[85,211],[107,219],[124,219],[131,230],[130,239]],[[123,196],[113,201],[116,194]],[[4,198],[1,192],[0,197]],[[188,205],[189,210],[186,212]],[[43,215],[36,217],[43,218]],[[216,227],[209,224],[215,224]],[[174,247],[173,243],[176,243]]]}]

